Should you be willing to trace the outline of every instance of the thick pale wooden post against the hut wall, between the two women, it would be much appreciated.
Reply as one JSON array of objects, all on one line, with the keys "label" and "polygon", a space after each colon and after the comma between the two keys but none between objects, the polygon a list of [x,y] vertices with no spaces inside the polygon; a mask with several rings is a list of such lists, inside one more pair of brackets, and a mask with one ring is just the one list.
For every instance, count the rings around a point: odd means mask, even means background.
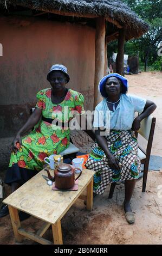
[{"label": "thick pale wooden post against the hut wall, between the two women", "polygon": [[104,75],[105,66],[105,18],[96,19],[95,35],[95,78],[94,78],[94,108],[99,102],[98,85]]}]

